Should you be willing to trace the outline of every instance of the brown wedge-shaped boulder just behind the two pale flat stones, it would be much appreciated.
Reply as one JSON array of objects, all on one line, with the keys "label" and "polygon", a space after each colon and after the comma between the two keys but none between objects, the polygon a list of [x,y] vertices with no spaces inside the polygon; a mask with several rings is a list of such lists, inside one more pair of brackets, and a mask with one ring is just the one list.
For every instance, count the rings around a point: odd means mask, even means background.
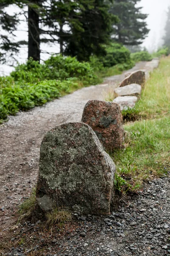
[{"label": "brown wedge-shaped boulder just behind the two pale flat stones", "polygon": [[125,85],[129,84],[140,84],[142,87],[144,87],[145,83],[145,72],[144,70],[137,70],[132,73],[130,73],[129,76],[127,76],[119,85],[119,87],[123,87]]}]

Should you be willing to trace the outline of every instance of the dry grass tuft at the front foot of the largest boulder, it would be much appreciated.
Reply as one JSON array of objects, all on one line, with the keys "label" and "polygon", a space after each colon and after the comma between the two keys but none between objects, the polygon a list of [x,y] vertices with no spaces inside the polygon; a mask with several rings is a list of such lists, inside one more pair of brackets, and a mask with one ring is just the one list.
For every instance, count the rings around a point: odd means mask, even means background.
[{"label": "dry grass tuft at the front foot of the largest boulder", "polygon": [[45,217],[48,227],[54,227],[56,225],[61,227],[66,221],[71,220],[71,212],[55,208],[51,212],[46,213]]}]

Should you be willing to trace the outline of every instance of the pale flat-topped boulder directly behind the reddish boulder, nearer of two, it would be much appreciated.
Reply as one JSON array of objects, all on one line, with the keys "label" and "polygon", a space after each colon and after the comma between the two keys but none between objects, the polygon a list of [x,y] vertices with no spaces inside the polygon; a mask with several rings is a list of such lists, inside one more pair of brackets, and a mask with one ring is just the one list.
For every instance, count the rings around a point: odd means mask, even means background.
[{"label": "pale flat-topped boulder directly behind the reddish boulder, nearer of two", "polygon": [[117,103],[121,110],[127,110],[128,108],[134,108],[137,100],[136,96],[119,96],[113,99],[113,102]]}]

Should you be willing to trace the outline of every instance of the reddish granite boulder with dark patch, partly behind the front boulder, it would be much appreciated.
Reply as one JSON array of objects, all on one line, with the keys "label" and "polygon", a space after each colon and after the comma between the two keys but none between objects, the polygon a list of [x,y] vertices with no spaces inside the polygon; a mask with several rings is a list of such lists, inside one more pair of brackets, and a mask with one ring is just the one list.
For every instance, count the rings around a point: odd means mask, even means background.
[{"label": "reddish granite boulder with dark patch, partly behind the front boulder", "polygon": [[82,122],[91,126],[106,150],[122,147],[124,129],[118,104],[89,100],[83,110]]}]

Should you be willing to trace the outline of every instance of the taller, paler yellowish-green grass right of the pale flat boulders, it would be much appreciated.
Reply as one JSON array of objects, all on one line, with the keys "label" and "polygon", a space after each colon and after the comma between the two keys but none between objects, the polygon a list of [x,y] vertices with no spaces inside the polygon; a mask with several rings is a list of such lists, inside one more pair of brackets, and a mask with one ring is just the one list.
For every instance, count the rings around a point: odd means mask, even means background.
[{"label": "taller, paler yellowish-green grass right of the pale flat boulders", "polygon": [[147,80],[136,108],[147,118],[170,114],[170,58],[162,58],[159,68]]}]

